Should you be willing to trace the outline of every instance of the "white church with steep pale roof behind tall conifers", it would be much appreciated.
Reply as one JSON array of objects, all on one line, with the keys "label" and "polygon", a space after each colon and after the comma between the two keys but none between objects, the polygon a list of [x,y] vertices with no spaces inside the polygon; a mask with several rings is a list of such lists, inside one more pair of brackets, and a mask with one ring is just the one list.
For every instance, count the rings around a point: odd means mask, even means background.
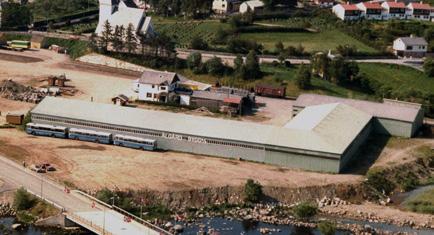
[{"label": "white church with steep pale roof behind tall conifers", "polygon": [[151,17],[147,17],[145,9],[140,9],[133,0],[99,0],[99,20],[95,33],[101,35],[104,24],[108,21],[112,28],[129,24],[140,35],[153,35],[154,26]]}]

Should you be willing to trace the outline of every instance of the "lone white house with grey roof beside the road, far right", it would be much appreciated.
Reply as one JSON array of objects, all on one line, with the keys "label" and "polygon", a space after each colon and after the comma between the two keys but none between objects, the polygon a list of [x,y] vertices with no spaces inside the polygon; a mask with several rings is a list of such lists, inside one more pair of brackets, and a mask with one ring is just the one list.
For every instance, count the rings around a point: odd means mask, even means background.
[{"label": "lone white house with grey roof beside the road, far right", "polygon": [[428,51],[428,43],[421,37],[402,37],[393,41],[395,55],[401,57],[424,57]]}]

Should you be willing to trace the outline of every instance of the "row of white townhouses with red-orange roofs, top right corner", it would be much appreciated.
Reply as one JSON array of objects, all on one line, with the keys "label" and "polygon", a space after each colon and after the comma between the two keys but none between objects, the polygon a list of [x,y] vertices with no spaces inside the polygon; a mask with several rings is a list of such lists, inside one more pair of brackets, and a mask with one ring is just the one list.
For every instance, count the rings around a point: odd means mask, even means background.
[{"label": "row of white townhouses with red-orange roofs, top right corner", "polygon": [[333,13],[342,20],[389,20],[389,19],[418,19],[431,20],[434,18],[434,8],[425,3],[403,2],[361,2],[358,4],[337,4],[332,8]]}]

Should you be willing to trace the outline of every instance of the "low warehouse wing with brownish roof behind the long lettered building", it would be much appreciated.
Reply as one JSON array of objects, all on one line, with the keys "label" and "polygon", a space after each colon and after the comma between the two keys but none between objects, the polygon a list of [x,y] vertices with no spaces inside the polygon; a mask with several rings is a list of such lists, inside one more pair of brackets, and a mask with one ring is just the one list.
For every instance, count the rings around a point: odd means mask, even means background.
[{"label": "low warehouse wing with brownish roof behind the long lettered building", "polygon": [[420,104],[384,99],[382,103],[344,99],[333,96],[302,94],[294,102],[293,115],[305,107],[342,103],[372,115],[373,130],[379,134],[413,137],[423,124],[424,111]]}]

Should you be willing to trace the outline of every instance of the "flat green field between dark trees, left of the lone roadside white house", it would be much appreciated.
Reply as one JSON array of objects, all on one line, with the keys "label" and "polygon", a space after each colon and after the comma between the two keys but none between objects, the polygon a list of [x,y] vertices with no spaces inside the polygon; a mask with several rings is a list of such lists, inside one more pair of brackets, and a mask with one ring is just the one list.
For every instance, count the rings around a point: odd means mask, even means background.
[{"label": "flat green field between dark trees, left of the lone roadside white house", "polygon": [[254,40],[264,45],[264,49],[273,51],[276,42],[281,41],[285,46],[302,45],[306,51],[334,50],[338,45],[354,45],[360,52],[375,53],[377,50],[338,30],[324,32],[284,32],[284,33],[243,33],[241,38]]}]

